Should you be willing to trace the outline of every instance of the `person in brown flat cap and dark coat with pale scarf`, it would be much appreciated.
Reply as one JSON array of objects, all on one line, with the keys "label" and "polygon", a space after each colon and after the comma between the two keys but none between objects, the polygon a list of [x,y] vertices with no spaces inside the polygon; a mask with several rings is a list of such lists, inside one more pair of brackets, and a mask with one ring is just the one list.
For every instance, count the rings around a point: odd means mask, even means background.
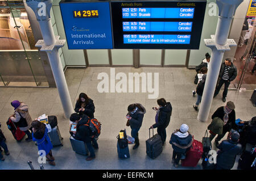
[{"label": "person in brown flat cap and dark coat with pale scarf", "polygon": [[236,112],[234,108],[234,103],[229,101],[226,103],[226,106],[219,107],[212,115],[212,119],[219,117],[224,121],[222,134],[218,134],[215,139],[216,146],[218,146],[218,142],[225,136],[226,132],[229,132],[231,129],[237,130]]}]

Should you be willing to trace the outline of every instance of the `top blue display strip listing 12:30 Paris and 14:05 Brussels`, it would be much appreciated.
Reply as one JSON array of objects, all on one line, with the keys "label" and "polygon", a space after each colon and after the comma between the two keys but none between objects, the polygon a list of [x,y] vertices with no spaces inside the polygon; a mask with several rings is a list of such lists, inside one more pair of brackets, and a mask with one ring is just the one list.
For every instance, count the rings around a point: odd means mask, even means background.
[{"label": "top blue display strip listing 12:30 Paris and 14:05 Brussels", "polygon": [[122,18],[193,18],[195,8],[122,8]]}]

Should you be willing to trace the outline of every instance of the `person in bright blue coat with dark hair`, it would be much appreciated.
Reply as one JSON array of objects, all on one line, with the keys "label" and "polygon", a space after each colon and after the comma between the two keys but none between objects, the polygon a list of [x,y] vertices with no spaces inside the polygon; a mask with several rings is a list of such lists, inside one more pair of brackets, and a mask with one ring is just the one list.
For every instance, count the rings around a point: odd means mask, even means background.
[{"label": "person in bright blue coat with dark hair", "polygon": [[[48,128],[46,124],[41,123],[38,120],[32,121],[32,138],[33,141],[36,141],[39,151],[44,151],[49,165],[55,166],[55,158],[52,156],[52,143],[48,137]],[[40,156],[43,156],[40,153]]]}]

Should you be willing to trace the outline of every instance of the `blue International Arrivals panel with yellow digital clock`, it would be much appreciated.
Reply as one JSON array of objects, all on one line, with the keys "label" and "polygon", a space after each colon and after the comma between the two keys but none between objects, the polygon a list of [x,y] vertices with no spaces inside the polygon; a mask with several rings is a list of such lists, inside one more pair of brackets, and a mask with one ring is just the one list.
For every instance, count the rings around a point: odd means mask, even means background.
[{"label": "blue International Arrivals panel with yellow digital clock", "polygon": [[68,49],[112,49],[109,2],[61,1]]}]

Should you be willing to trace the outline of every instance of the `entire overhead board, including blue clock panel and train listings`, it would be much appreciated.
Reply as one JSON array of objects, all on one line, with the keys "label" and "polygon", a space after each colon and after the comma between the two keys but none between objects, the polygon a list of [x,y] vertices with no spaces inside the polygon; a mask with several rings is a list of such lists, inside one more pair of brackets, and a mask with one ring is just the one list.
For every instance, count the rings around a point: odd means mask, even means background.
[{"label": "entire overhead board, including blue clock panel and train listings", "polygon": [[199,49],[207,0],[62,0],[69,49]]}]

